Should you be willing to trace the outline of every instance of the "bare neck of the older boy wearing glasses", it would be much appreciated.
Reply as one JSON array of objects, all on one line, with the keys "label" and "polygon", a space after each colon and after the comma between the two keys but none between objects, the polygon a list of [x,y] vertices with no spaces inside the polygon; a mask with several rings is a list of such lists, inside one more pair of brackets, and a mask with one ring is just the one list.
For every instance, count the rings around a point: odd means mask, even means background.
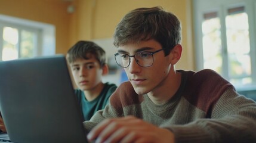
[{"label": "bare neck of the older boy wearing glasses", "polygon": [[178,91],[180,83],[181,73],[175,71],[173,68],[166,79],[159,83],[159,85],[147,95],[155,104],[164,104]]}]

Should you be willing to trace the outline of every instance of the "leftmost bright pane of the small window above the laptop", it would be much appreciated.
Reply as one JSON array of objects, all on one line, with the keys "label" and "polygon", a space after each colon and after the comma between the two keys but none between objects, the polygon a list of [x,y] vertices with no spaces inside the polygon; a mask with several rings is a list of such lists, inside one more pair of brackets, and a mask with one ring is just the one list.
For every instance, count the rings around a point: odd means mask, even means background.
[{"label": "leftmost bright pane of the small window above the laptop", "polygon": [[4,27],[2,61],[18,58],[18,30],[12,27]]}]

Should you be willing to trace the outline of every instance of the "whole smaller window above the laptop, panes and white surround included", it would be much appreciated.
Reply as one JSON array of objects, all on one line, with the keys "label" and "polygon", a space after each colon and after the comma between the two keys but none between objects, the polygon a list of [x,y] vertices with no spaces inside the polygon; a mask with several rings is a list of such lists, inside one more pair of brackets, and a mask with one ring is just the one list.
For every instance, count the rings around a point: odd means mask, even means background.
[{"label": "whole smaller window above the laptop, panes and white surround included", "polygon": [[0,15],[0,61],[53,54],[54,26]]}]

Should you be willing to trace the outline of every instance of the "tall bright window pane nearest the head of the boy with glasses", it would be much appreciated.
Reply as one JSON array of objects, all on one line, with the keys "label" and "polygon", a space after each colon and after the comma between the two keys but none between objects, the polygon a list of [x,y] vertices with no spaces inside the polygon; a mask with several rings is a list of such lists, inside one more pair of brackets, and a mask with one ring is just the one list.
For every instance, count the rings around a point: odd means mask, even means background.
[{"label": "tall bright window pane nearest the head of the boy with glasses", "polygon": [[222,73],[220,18],[209,18],[202,23],[203,68]]}]

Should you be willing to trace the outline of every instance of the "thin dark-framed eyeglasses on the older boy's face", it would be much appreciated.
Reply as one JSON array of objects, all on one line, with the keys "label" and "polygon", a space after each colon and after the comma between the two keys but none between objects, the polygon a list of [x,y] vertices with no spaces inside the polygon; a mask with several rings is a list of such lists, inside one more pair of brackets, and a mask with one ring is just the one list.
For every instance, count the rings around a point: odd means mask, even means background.
[{"label": "thin dark-framed eyeglasses on the older boy's face", "polygon": [[158,49],[155,52],[137,52],[135,55],[116,53],[115,60],[118,66],[126,68],[129,67],[129,64],[131,63],[131,57],[134,57],[138,66],[150,67],[154,61],[153,54],[156,54],[162,50],[163,49]]}]

